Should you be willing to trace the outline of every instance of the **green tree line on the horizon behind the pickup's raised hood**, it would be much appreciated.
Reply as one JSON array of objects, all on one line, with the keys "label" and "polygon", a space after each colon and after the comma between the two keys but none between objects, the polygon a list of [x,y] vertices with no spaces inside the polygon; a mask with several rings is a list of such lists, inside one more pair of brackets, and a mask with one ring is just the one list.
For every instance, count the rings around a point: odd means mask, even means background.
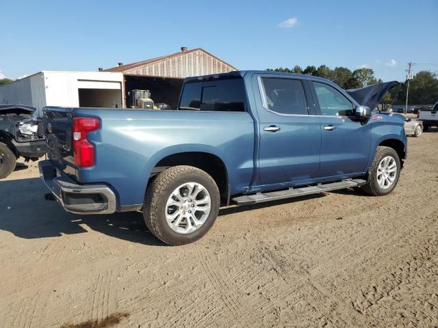
[{"label": "green tree line on the horizon behind the pickup's raised hood", "polygon": [[[296,65],[294,68],[268,68],[271,72],[286,72],[296,74],[308,74],[315,77],[329,79],[345,90],[366,87],[375,83],[383,82],[374,76],[372,68],[357,68],[350,70],[346,67],[331,69],[326,65],[318,68],[307,66],[302,69]],[[406,102],[407,82],[402,82],[385,94],[382,102],[391,105],[403,105]],[[438,101],[438,74],[430,70],[421,70],[409,81],[409,104],[432,105]]]}]

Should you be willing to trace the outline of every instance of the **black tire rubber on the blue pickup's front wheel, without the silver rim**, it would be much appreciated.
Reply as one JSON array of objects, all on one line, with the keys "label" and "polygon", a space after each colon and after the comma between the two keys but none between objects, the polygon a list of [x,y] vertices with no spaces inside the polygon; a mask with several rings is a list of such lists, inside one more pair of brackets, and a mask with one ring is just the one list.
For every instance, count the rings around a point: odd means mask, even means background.
[{"label": "black tire rubber on the blue pickup's front wheel, without the silver rim", "polygon": [[[377,180],[377,169],[378,165],[381,163],[381,161],[386,157],[391,156],[396,161],[396,177],[394,182],[391,184],[391,186],[387,189],[383,189],[378,184]],[[394,188],[397,185],[398,178],[400,177],[400,158],[398,157],[398,154],[394,148],[390,147],[384,147],[384,146],[378,146],[376,150],[376,154],[374,154],[374,159],[372,161],[370,173],[368,174],[368,181],[366,184],[364,184],[361,189],[365,191],[365,193],[368,193],[373,196],[383,196],[391,193],[391,191],[394,190]]]}]

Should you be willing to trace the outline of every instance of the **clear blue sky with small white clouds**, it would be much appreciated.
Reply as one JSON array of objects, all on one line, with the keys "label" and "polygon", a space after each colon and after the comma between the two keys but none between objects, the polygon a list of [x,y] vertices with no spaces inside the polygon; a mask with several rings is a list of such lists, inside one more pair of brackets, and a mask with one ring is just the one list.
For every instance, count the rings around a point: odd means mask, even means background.
[{"label": "clear blue sky with small white clouds", "polygon": [[438,1],[0,0],[0,76],[97,70],[202,47],[233,66],[438,71]]}]

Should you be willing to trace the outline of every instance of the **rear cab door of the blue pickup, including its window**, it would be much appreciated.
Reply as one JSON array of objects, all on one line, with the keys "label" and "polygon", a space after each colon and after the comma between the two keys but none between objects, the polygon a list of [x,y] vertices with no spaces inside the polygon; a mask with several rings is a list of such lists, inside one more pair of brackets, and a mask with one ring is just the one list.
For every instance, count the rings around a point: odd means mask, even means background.
[{"label": "rear cab door of the blue pickup, including its window", "polygon": [[[315,178],[320,165],[320,121],[309,115],[311,92],[294,77],[257,77],[259,183],[291,185]],[[255,91],[255,92],[257,92]],[[258,96],[258,95],[257,95]]]}]

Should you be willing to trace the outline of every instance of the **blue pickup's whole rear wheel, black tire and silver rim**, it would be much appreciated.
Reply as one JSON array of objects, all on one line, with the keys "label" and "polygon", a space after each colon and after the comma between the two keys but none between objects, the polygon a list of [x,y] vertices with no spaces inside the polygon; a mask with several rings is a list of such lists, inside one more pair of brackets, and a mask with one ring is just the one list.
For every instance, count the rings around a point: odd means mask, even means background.
[{"label": "blue pickup's whole rear wheel, black tire and silver rim", "polygon": [[218,217],[220,193],[201,169],[175,166],[160,173],[146,190],[143,217],[148,229],[169,245],[193,243]]}]

